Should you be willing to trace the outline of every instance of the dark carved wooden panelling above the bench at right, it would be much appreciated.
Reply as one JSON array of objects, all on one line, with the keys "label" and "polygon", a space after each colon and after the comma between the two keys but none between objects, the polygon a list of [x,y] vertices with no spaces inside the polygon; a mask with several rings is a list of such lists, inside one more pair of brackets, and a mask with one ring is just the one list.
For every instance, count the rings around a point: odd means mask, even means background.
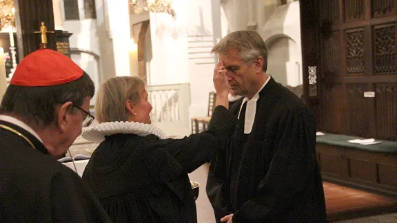
[{"label": "dark carved wooden panelling above the bench at right", "polygon": [[397,140],[396,6],[301,1],[305,101],[318,131]]}]

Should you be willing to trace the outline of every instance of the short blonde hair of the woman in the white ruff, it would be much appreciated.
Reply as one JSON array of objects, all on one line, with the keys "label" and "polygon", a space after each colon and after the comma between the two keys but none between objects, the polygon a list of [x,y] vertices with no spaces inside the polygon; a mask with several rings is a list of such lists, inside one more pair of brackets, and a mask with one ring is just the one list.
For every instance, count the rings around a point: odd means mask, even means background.
[{"label": "short blonde hair of the woman in the white ruff", "polygon": [[125,101],[138,105],[139,93],[145,81],[136,76],[114,76],[99,85],[95,103],[95,116],[99,123],[128,121],[130,117]]}]

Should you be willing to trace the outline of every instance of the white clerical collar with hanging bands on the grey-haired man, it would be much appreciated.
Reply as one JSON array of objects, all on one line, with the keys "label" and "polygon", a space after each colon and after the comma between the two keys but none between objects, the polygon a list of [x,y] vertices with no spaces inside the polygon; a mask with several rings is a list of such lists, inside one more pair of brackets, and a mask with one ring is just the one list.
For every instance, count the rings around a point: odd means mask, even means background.
[{"label": "white clerical collar with hanging bands on the grey-haired man", "polygon": [[252,125],[254,125],[256,114],[256,101],[259,99],[259,92],[261,92],[263,87],[265,87],[265,85],[269,82],[270,78],[272,78],[272,76],[268,76],[269,77],[262,85],[261,89],[259,89],[251,99],[245,97],[243,99],[243,103],[241,103],[240,111],[238,111],[238,118],[240,118],[241,108],[243,108],[244,103],[247,102],[247,108],[245,109],[244,134],[250,134],[252,131]]}]

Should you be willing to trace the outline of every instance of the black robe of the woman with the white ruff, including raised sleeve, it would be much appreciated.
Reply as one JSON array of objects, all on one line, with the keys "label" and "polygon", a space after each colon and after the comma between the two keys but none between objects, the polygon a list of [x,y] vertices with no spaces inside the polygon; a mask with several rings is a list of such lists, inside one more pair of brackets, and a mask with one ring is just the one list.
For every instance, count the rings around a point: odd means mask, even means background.
[{"label": "black robe of the woman with the white ruff, including raised sleeve", "polygon": [[218,106],[208,131],[182,139],[106,136],[83,179],[114,222],[196,222],[187,173],[214,158],[218,145],[226,144],[235,127],[230,111]]}]

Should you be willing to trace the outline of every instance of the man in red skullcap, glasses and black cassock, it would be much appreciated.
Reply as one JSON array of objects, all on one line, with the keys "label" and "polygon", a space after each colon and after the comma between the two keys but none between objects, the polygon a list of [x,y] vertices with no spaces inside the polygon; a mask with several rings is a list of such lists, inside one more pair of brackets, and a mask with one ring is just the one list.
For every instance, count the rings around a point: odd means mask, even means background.
[{"label": "man in red skullcap, glasses and black cassock", "polygon": [[56,158],[93,120],[94,83],[67,56],[38,50],[0,105],[0,222],[110,222],[94,193]]}]

